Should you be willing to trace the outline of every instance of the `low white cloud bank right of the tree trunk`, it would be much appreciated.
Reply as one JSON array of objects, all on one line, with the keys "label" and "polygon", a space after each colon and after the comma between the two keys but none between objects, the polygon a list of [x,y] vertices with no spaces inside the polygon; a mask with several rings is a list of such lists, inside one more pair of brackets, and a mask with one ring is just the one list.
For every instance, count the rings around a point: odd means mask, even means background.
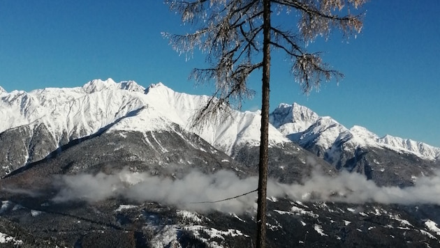
[{"label": "low white cloud bank right of the tree trunk", "polygon": [[289,199],[347,203],[433,203],[440,205],[440,174],[416,178],[411,187],[379,187],[360,173],[342,171],[329,177],[313,173],[302,184],[278,185]]}]

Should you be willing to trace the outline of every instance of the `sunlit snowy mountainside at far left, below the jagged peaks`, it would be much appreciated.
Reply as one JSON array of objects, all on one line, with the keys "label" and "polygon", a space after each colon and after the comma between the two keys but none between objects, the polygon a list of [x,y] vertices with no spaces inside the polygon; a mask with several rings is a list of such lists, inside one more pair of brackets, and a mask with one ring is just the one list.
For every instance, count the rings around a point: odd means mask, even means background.
[{"label": "sunlit snowy mountainside at far left, below the jagged peaks", "polygon": [[98,79],[77,88],[3,94],[0,114],[5,118],[0,123],[0,132],[43,123],[58,142],[64,135],[76,139],[93,134],[145,105],[142,91],[121,89],[127,84],[131,83],[116,84],[112,79],[105,82]]}]

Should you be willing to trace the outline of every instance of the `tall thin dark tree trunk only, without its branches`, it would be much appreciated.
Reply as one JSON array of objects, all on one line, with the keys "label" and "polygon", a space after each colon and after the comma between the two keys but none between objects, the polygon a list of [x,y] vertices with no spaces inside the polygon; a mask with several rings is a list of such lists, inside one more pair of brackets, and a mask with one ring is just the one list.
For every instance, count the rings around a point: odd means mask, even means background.
[{"label": "tall thin dark tree trunk only, without its branches", "polygon": [[261,101],[260,161],[258,165],[258,209],[256,247],[266,246],[266,196],[269,146],[270,95],[270,0],[263,0],[263,79]]}]

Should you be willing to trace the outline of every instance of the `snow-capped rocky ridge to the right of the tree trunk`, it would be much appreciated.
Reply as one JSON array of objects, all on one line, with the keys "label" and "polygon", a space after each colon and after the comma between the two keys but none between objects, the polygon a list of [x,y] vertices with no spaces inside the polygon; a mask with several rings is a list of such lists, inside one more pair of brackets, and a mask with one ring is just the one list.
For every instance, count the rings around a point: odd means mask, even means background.
[{"label": "snow-capped rocky ridge to the right of the tree trunk", "polygon": [[354,150],[374,147],[413,153],[425,160],[437,160],[440,157],[440,148],[390,135],[379,137],[358,125],[348,129],[334,119],[319,117],[314,111],[296,103],[280,104],[271,114],[270,121],[289,139],[306,148],[319,146],[330,156],[336,148]]}]

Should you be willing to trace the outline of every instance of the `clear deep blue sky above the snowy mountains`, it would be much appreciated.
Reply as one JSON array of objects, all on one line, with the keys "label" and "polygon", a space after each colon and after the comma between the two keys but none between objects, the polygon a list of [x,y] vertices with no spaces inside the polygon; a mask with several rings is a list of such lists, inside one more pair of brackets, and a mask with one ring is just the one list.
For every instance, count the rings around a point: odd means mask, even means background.
[{"label": "clear deep blue sky above the snowy mountains", "polygon": [[[344,73],[318,93],[302,95],[284,56],[274,54],[272,109],[303,104],[346,127],[362,125],[440,147],[440,2],[372,0],[357,38],[316,40],[309,49]],[[210,94],[187,77],[204,57],[179,56],[161,36],[183,33],[161,0],[0,1],[0,86],[6,91],[82,86],[91,79],[163,82],[175,91]],[[258,72],[257,72],[258,73]],[[260,90],[261,75],[250,85]],[[256,95],[244,109],[256,109]]]}]

